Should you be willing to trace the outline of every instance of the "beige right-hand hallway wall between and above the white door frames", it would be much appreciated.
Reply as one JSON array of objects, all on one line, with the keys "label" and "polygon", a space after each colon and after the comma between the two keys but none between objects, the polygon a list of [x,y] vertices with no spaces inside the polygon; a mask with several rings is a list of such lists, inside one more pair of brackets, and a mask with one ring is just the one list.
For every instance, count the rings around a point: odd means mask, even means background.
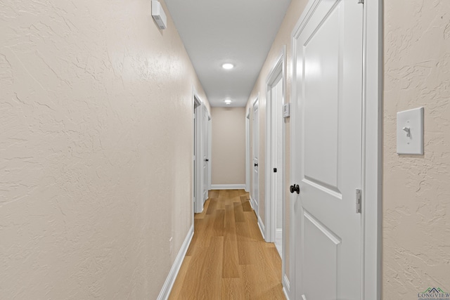
[{"label": "beige right-hand hallway wall between and above the white door frames", "polygon": [[[265,178],[265,134],[266,134],[266,79],[269,76],[269,72],[275,67],[278,58],[283,51],[283,46],[286,46],[286,91],[285,91],[285,103],[292,102],[290,99],[290,94],[292,91],[292,37],[291,34],[294,30],[295,24],[302,15],[304,7],[307,5],[307,0],[292,0],[288,11],[286,12],[285,18],[278,30],[278,34],[274,39],[274,44],[272,44],[269,53],[267,54],[266,61],[262,66],[259,77],[255,82],[252,93],[247,103],[247,108],[252,107],[252,103],[257,98],[259,93],[259,211],[262,217],[263,223],[265,223],[264,207],[265,207],[265,196],[264,196],[264,178]],[[252,114],[252,110],[251,114]],[[252,115],[250,115],[252,118]],[[252,122],[250,122],[252,124]],[[285,207],[286,207],[286,247],[285,247],[285,261],[286,261],[286,274],[290,278],[290,193],[289,185],[290,183],[290,119],[285,119]],[[250,140],[252,141],[252,139]],[[252,152],[250,152],[252,153]],[[252,174],[252,173],[250,173]],[[252,183],[250,179],[250,183]],[[252,188],[250,189],[252,190]]]}]

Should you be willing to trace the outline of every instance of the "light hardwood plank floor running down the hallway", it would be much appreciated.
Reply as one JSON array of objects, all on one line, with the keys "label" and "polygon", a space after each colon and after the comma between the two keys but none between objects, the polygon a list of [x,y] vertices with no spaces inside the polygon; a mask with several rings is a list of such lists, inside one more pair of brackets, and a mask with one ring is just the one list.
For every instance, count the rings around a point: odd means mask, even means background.
[{"label": "light hardwood plank floor running down the hallway", "polygon": [[211,190],[169,299],[285,299],[281,259],[244,190]]}]

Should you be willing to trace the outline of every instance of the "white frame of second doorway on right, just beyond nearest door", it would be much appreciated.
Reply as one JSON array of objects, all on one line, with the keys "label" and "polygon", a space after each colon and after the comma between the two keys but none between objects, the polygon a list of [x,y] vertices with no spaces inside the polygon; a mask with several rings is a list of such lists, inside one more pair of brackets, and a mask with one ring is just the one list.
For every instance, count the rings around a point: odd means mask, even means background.
[{"label": "white frame of second doorway on right, just beyond nearest door", "polygon": [[[285,76],[285,58],[286,58],[286,46],[283,46],[283,49],[281,50],[280,55],[278,56],[278,59],[276,60],[276,64],[272,68],[271,72],[269,72],[269,75],[266,79],[266,155],[265,155],[265,206],[266,206],[266,224],[265,224],[265,237],[266,242],[274,242],[276,238],[276,201],[274,199],[273,190],[272,190],[272,97],[271,97],[271,89],[276,81],[281,76],[281,80],[283,82],[282,85],[282,104],[285,104],[285,84],[286,84],[286,76]],[[281,150],[281,158],[282,158],[282,165],[278,167],[278,169],[281,170],[281,180],[283,181],[282,185],[285,186],[285,125],[283,122],[283,126],[281,127],[282,131],[282,150]],[[277,170],[278,172],[278,170]],[[281,187],[283,188],[283,187]],[[283,191],[284,192],[284,191]],[[282,193],[281,201],[283,203],[283,231],[285,229],[285,196],[284,193]],[[283,234],[284,235],[284,234]],[[283,248],[284,248],[284,237],[283,237]],[[285,252],[285,249],[283,249],[283,252]],[[283,253],[284,254],[284,253]]]}]

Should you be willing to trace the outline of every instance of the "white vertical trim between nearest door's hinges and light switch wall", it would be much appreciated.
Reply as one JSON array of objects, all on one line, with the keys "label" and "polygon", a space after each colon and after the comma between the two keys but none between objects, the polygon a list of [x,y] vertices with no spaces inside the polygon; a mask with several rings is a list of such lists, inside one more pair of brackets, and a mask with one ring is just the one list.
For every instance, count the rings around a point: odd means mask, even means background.
[{"label": "white vertical trim between nearest door's hinges and light switch wall", "polygon": [[383,162],[383,1],[364,1],[362,299],[381,299]]}]

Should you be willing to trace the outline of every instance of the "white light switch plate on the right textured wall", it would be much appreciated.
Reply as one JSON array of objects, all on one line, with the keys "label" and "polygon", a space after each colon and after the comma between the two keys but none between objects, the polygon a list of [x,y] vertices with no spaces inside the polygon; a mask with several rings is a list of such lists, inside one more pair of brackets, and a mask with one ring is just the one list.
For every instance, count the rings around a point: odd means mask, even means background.
[{"label": "white light switch plate on the right textured wall", "polygon": [[397,153],[423,155],[423,107],[397,112]]}]

